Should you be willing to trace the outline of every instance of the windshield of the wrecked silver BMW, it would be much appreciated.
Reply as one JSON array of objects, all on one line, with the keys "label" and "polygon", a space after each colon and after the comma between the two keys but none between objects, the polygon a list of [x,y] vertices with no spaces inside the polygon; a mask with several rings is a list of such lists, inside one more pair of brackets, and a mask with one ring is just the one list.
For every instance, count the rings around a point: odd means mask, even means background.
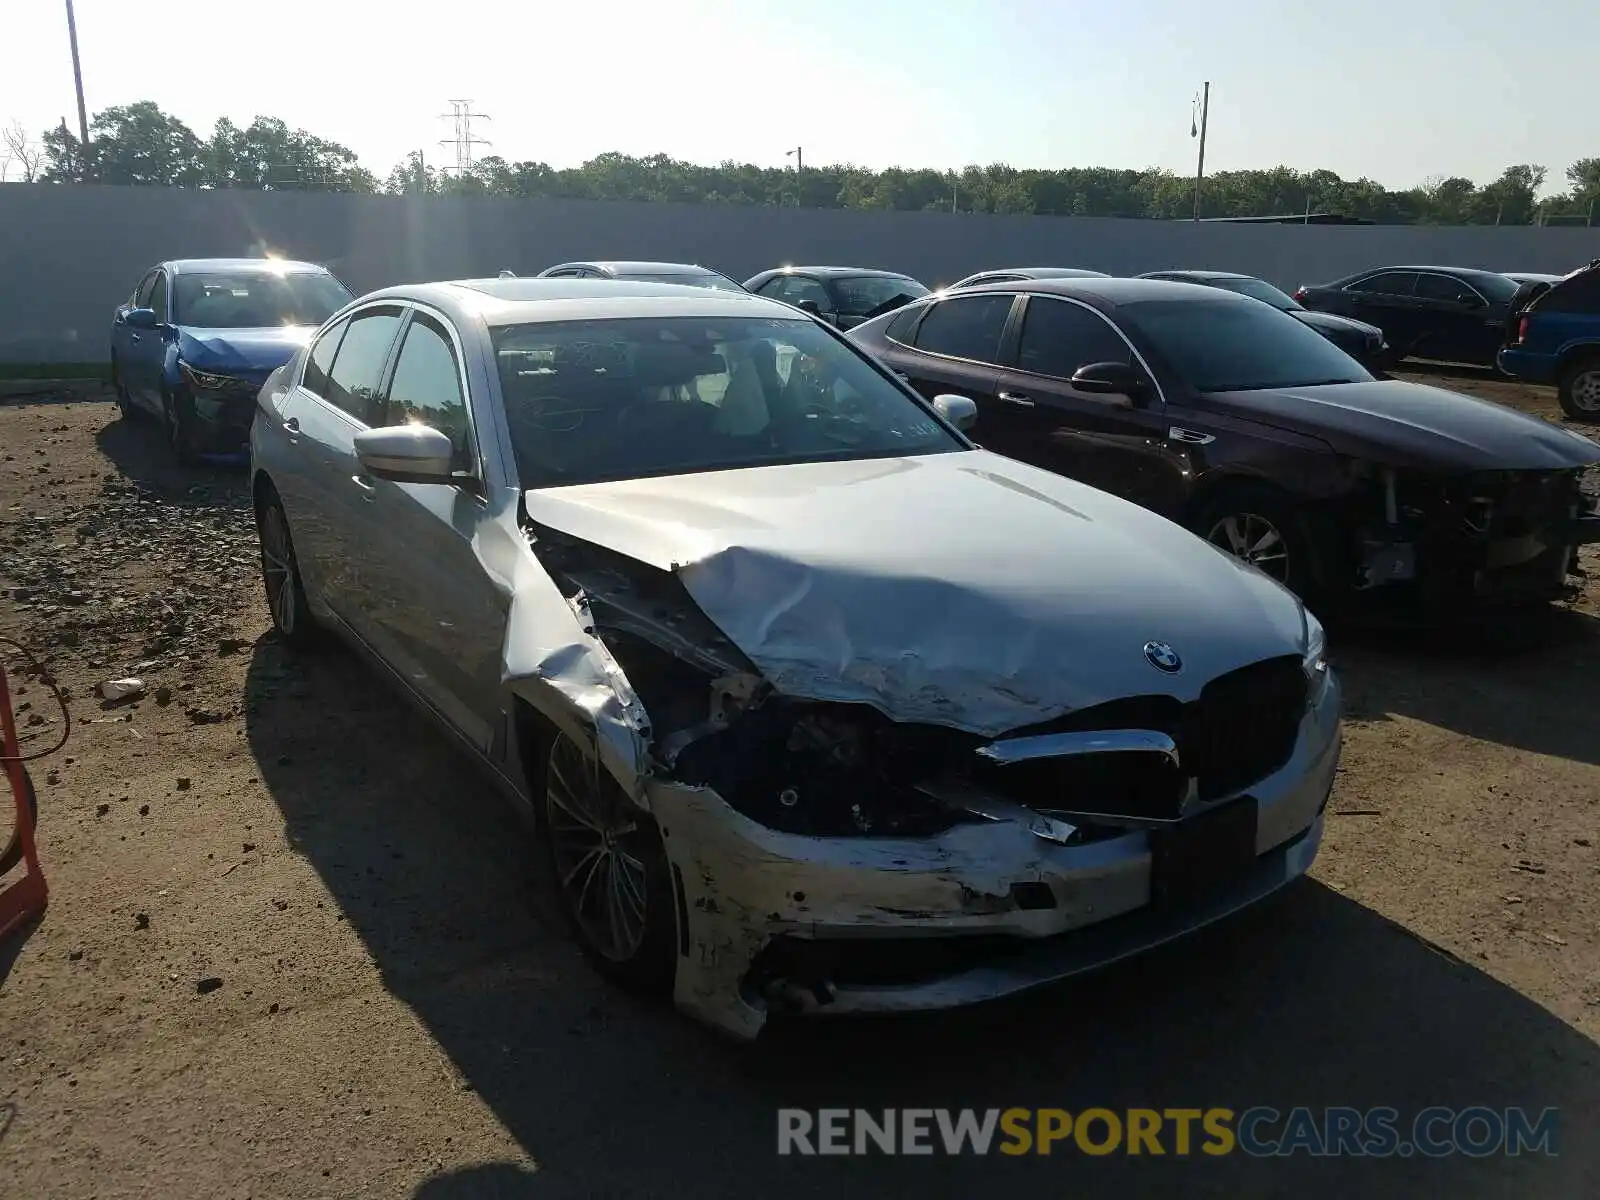
[{"label": "windshield of the wrecked silver BMW", "polygon": [[542,322],[493,338],[525,488],[966,450],[810,320]]}]

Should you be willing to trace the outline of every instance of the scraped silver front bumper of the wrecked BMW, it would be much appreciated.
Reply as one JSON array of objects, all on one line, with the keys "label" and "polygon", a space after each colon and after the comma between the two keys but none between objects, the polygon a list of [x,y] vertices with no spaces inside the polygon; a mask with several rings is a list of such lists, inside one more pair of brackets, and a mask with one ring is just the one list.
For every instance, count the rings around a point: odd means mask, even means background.
[{"label": "scraped silver front bumper of the wrecked BMW", "polygon": [[[952,1008],[1139,954],[1306,874],[1339,752],[1330,674],[1288,763],[1248,789],[1254,862],[1171,906],[1152,904],[1142,830],[1086,845],[1046,842],[1010,821],[931,838],[800,837],[750,821],[709,789],[651,781],[680,898],[677,1005],[750,1038],[771,1008]],[[912,965],[888,981],[883,971],[851,978],[851,960],[874,957]]]}]

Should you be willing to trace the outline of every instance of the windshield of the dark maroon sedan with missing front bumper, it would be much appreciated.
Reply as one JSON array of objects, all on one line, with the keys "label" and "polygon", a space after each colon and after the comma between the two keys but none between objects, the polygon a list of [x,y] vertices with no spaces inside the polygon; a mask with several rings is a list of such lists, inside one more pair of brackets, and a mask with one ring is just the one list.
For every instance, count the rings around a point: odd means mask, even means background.
[{"label": "windshield of the dark maroon sedan with missing front bumper", "polygon": [[1315,330],[1264,304],[1221,296],[1138,301],[1117,314],[1198,392],[1366,382],[1373,376]]}]

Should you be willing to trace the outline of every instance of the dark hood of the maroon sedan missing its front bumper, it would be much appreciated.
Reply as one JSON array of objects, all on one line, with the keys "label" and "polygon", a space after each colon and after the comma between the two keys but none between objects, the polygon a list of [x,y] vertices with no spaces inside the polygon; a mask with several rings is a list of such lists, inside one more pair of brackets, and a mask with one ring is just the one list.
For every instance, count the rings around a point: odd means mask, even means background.
[{"label": "dark hood of the maroon sedan missing its front bumper", "polygon": [[1402,379],[1208,392],[1205,403],[1232,416],[1314,434],[1341,454],[1395,467],[1562,470],[1600,461],[1600,445],[1549,421]]}]

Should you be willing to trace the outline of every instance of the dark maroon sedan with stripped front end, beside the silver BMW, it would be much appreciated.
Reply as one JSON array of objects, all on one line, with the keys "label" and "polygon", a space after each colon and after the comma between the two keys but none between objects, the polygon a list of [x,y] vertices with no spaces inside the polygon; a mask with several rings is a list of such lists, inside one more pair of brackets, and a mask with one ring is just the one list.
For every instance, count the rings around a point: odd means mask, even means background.
[{"label": "dark maroon sedan with stripped front end, beside the silver BMW", "polygon": [[1026,280],[930,296],[850,334],[922,395],[978,405],[987,450],[1181,522],[1301,595],[1544,600],[1600,541],[1600,445],[1485,400],[1376,379],[1219,288]]}]

